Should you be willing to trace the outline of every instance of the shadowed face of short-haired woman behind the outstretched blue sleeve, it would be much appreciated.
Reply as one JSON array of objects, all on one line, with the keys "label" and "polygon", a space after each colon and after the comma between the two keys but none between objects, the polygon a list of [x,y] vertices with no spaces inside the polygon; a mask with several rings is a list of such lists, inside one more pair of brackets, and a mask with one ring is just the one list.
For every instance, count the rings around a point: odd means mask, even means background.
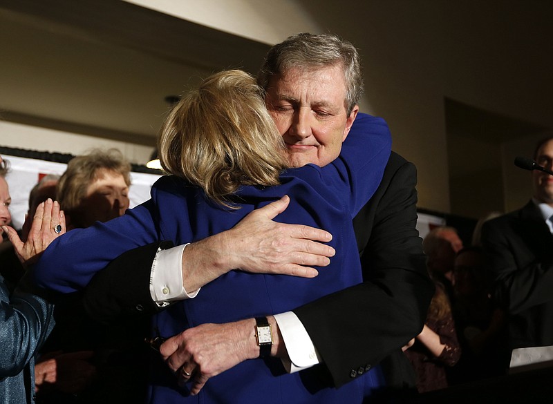
[{"label": "shadowed face of short-haired woman behind the outstretched blue sleeve", "polygon": [[79,211],[84,216],[84,227],[88,227],[96,221],[107,222],[118,218],[126,209],[129,209],[129,186],[123,175],[102,170],[88,185]]}]

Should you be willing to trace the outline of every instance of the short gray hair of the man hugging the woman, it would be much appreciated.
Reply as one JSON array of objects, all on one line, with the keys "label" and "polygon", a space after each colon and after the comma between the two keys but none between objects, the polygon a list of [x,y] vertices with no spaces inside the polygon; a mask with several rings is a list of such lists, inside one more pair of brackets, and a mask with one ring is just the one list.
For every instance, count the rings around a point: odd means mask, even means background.
[{"label": "short gray hair of the man hugging the woman", "polygon": [[257,75],[257,84],[267,90],[274,75],[292,68],[316,70],[341,65],[346,81],[344,106],[348,115],[363,94],[361,61],[355,46],[337,35],[301,33],[288,37],[270,48]]}]

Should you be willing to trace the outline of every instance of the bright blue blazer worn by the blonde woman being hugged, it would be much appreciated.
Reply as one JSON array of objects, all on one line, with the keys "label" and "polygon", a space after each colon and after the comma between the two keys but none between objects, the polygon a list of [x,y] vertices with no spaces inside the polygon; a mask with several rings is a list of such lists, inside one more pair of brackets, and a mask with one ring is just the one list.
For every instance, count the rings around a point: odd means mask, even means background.
[{"label": "bright blue blazer worn by the blonde woman being hugged", "polygon": [[[71,231],[48,247],[35,268],[40,285],[75,291],[124,251],[156,240],[194,242],[227,230],[256,208],[290,195],[290,206],[277,217],[288,223],[326,229],[337,253],[313,279],[243,273],[235,270],[205,285],[194,299],[173,305],[154,319],[162,336],[202,323],[228,323],[289,311],[362,282],[352,219],[371,198],[391,152],[383,119],[359,114],[340,157],[320,168],[308,164],[281,175],[281,185],[244,186],[236,194],[241,209],[229,210],[205,198],[203,191],[174,176],[154,184],[151,200],[121,218]],[[70,260],[66,257],[71,257]],[[325,387],[317,369],[285,374],[279,360],[248,360],[210,379],[198,396],[178,387],[163,363],[154,364],[151,402],[360,403],[379,386],[378,369],[339,389]]]}]

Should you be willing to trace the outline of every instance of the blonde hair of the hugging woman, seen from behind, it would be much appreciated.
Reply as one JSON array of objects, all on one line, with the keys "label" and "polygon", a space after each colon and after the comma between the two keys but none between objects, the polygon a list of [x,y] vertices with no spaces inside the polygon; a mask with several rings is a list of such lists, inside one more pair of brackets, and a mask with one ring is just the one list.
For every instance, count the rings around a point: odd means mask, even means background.
[{"label": "blonde hair of the hugging woman, seen from behind", "polygon": [[185,95],[161,128],[158,150],[167,173],[233,209],[229,197],[240,186],[278,185],[288,167],[263,90],[241,70],[216,73]]}]

